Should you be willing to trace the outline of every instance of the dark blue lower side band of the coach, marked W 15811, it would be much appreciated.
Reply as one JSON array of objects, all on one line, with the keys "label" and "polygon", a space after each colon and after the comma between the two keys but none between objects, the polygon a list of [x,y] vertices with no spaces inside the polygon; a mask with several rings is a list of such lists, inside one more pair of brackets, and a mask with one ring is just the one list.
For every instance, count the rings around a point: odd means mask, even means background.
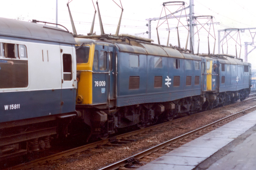
[{"label": "dark blue lower side band of the coach, marked W 15811", "polygon": [[[64,99],[61,106],[61,93]],[[75,111],[76,89],[12,91],[1,93],[0,122],[28,119]],[[20,104],[10,110],[11,104]],[[8,105],[8,110],[5,110]]]}]

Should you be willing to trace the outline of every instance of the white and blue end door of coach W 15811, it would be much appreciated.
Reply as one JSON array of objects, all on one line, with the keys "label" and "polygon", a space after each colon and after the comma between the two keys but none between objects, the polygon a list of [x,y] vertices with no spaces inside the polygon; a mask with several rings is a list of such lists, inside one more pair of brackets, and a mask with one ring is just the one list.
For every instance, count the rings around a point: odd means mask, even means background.
[{"label": "white and blue end door of coach W 15811", "polygon": [[[61,57],[61,113],[75,111],[76,98],[76,62],[73,60],[71,45],[60,45]],[[53,73],[54,74],[54,73]]]}]

